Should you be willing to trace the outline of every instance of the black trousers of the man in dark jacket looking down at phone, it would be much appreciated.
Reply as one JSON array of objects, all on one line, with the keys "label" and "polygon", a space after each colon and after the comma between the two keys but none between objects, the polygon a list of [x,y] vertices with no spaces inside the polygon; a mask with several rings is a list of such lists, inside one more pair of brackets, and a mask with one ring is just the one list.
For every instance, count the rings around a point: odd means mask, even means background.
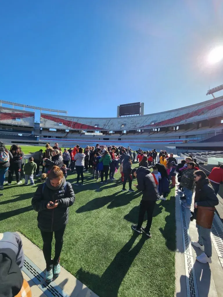
[{"label": "black trousers of the man in dark jacket looking down at phone", "polygon": [[155,205],[156,205],[156,201],[141,200],[137,228],[140,229],[142,227],[142,223],[144,221],[144,215],[145,215],[145,212],[147,212],[147,224],[146,224],[145,230],[147,232],[150,231],[150,227],[151,227],[152,220],[153,220],[153,210],[154,210]]}]

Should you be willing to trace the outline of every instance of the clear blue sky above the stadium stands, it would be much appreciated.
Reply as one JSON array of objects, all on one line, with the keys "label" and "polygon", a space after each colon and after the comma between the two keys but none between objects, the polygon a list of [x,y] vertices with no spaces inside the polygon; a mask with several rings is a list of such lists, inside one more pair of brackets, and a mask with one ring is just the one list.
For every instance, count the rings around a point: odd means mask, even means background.
[{"label": "clear blue sky above the stadium stands", "polygon": [[223,61],[206,55],[223,44],[222,15],[220,0],[1,1],[0,98],[86,117],[211,99]]}]

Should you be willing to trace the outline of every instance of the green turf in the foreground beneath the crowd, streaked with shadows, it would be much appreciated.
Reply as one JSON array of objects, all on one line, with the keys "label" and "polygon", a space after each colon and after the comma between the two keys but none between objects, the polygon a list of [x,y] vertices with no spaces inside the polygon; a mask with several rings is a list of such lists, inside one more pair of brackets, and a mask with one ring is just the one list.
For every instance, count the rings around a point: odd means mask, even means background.
[{"label": "green turf in the foreground beneath the crowd, streaked with shadows", "polygon": [[[25,152],[26,147],[22,149]],[[90,177],[85,173],[85,185],[73,186],[76,201],[70,207],[61,265],[100,297],[174,296],[175,190],[168,200],[157,202],[148,239],[131,230],[138,218],[140,192],[122,192],[119,179],[99,184]],[[67,181],[75,182],[76,174]],[[31,207],[37,186],[37,179],[34,186],[17,186],[15,181],[5,186],[0,230],[20,231],[42,248],[37,212]]]}]

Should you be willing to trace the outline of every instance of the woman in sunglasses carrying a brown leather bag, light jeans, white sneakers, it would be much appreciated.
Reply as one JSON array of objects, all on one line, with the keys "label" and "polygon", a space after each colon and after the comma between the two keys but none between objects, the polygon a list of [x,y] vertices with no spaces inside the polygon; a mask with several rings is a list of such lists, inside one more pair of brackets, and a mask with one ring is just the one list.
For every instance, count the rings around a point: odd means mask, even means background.
[{"label": "woman in sunglasses carrying a brown leather bag, light jeans, white sneakers", "polygon": [[[213,187],[210,184],[210,181],[204,171],[197,170],[194,171],[194,180],[196,182],[195,197],[194,197],[194,212],[202,212],[201,221],[196,221],[196,227],[198,232],[198,241],[192,241],[191,244],[194,247],[200,248],[203,253],[200,256],[197,256],[197,261],[201,263],[211,263],[212,247],[211,247],[211,225],[210,217],[206,215],[205,208],[209,207],[209,213],[214,212],[214,206],[219,204],[218,198],[214,192]],[[197,207],[204,206],[203,208]],[[213,208],[213,211],[210,210],[210,207]],[[195,215],[196,217],[196,215]],[[213,217],[212,217],[213,219]],[[202,220],[205,222],[207,220],[210,228],[203,227]]]}]

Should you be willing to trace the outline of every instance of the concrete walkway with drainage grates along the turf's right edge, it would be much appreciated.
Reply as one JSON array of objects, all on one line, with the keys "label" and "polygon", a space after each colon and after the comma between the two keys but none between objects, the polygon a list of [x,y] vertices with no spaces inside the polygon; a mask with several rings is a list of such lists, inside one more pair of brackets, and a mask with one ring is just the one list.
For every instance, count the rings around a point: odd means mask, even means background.
[{"label": "concrete walkway with drainage grates along the turf's right edge", "polygon": [[[191,210],[183,208],[180,202],[182,193],[176,187],[176,240],[175,255],[176,297],[223,297],[223,224],[217,214],[212,227],[212,263],[202,264],[196,256],[202,251],[193,247],[191,241],[198,240],[196,221],[190,221]],[[194,203],[192,203],[193,205]],[[222,252],[222,253],[221,253]]]}]

